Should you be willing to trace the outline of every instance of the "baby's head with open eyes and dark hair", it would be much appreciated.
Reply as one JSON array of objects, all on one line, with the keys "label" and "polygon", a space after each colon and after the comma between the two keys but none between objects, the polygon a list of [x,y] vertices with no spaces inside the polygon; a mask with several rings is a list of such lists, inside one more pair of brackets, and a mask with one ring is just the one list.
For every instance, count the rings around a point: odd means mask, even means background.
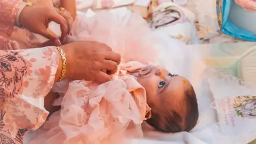
[{"label": "baby's head with open eyes and dark hair", "polygon": [[162,67],[141,69],[138,82],[146,89],[151,117],[147,123],[161,132],[192,130],[198,120],[196,94],[189,81]]}]

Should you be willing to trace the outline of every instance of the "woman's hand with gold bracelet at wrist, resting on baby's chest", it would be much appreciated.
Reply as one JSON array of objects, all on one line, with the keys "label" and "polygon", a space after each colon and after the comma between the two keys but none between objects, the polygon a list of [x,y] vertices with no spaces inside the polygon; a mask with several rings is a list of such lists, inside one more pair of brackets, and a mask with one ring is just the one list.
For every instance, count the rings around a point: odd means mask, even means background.
[{"label": "woman's hand with gold bracelet at wrist, resting on baby's chest", "polygon": [[[121,60],[119,54],[99,42],[81,41],[60,47],[67,59],[65,79],[84,79],[99,83],[110,81],[110,74],[116,73]],[[61,69],[60,63],[56,80],[60,77]]]}]

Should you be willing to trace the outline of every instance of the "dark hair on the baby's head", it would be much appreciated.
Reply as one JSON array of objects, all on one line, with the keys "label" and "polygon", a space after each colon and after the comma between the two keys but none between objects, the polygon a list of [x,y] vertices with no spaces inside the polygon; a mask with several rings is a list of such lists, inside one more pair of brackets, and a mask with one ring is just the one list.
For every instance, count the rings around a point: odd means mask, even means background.
[{"label": "dark hair on the baby's head", "polygon": [[[183,102],[185,117],[182,118],[178,111],[162,107],[156,111],[152,109],[151,118],[147,120],[147,123],[161,132],[191,131],[196,126],[199,117],[196,93],[192,86],[186,87]],[[159,110],[162,113],[159,113]]]}]

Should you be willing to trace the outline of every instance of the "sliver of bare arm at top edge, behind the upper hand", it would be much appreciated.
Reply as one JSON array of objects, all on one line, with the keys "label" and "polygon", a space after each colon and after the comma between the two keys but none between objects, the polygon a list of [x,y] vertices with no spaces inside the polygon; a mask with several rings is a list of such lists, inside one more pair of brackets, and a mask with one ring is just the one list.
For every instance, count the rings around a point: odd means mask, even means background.
[{"label": "sliver of bare arm at top edge, behind the upper hand", "polygon": [[60,0],[61,2],[61,7],[65,8],[68,10],[73,19],[75,20],[76,18],[76,1],[75,0]]}]

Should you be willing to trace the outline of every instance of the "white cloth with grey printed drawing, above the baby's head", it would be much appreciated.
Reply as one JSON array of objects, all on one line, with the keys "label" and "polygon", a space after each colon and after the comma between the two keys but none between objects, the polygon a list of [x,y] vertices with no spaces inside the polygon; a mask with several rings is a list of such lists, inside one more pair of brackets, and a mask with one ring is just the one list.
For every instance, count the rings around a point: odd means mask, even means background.
[{"label": "white cloth with grey printed drawing, above the baby's head", "polygon": [[163,3],[156,7],[151,28],[162,31],[161,33],[179,39],[186,44],[199,43],[195,14],[172,2]]}]

